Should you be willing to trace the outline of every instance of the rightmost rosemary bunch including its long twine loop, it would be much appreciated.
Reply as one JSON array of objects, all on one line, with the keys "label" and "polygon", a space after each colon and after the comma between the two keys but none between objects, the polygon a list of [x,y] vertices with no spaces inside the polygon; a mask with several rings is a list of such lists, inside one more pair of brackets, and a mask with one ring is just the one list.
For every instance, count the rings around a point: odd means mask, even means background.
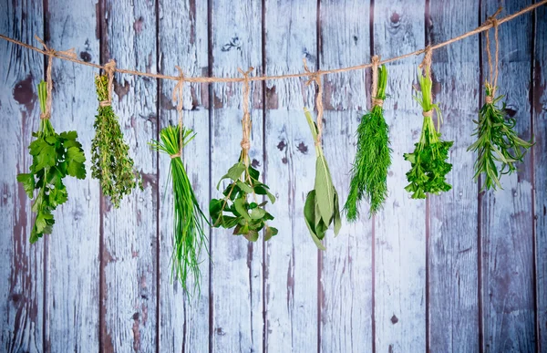
[{"label": "rightmost rosemary bunch including its long twine loop", "polygon": [[495,53],[492,63],[490,31],[486,31],[489,79],[484,83],[486,97],[484,105],[479,110],[479,119],[474,120],[477,128],[474,130],[473,136],[477,136],[477,140],[468,148],[468,151],[477,152],[477,160],[474,164],[474,179],[478,182],[482,175],[481,190],[502,189],[501,175],[517,171],[515,164],[523,161],[524,155],[533,145],[532,140],[526,141],[519,138],[514,130],[517,119],[507,116],[505,103],[503,103],[501,109],[496,105],[503,99],[503,96],[496,97],[500,67],[499,21],[496,16],[500,13],[501,7],[484,24],[484,26],[492,26],[494,29]]}]

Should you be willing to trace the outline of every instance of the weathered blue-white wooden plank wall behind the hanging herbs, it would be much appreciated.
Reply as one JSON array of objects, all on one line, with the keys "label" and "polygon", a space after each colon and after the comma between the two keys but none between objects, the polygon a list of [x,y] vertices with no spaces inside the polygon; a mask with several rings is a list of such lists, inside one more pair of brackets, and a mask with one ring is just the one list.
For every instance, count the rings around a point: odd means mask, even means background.
[{"label": "weathered blue-white wooden plank wall behind the hanging herbs", "polygon": [[[187,76],[237,77],[334,68],[439,43],[532,0],[0,0],[0,33],[86,61]],[[542,352],[547,349],[547,7],[500,28],[500,93],[517,130],[536,142],[504,190],[479,192],[472,142],[482,82],[484,36],[437,50],[435,99],[454,140],[450,192],[427,201],[404,191],[421,128],[412,99],[421,57],[388,65],[384,108],[393,165],[385,209],[344,223],[319,252],[304,225],[315,151],[303,106],[315,108],[304,78],[254,82],[251,158],[278,198],[280,233],[249,244],[209,233],[201,295],[188,302],[170,278],[169,158],[147,142],[176,123],[174,83],[117,74],[114,109],[142,173],[144,191],[119,209],[98,182],[67,182],[53,234],[28,244],[31,202],[15,181],[31,163],[38,126],[36,84],[46,59],[0,41],[0,351],[5,352]],[[54,61],[52,123],[77,130],[89,158],[97,70]],[[323,78],[325,155],[345,200],[355,130],[369,107],[370,72]],[[184,121],[198,135],[184,162],[204,209],[237,160],[242,86],[188,84]],[[89,163],[88,163],[89,165]],[[169,191],[168,185],[167,190]],[[365,206],[366,207],[366,206]]]}]

